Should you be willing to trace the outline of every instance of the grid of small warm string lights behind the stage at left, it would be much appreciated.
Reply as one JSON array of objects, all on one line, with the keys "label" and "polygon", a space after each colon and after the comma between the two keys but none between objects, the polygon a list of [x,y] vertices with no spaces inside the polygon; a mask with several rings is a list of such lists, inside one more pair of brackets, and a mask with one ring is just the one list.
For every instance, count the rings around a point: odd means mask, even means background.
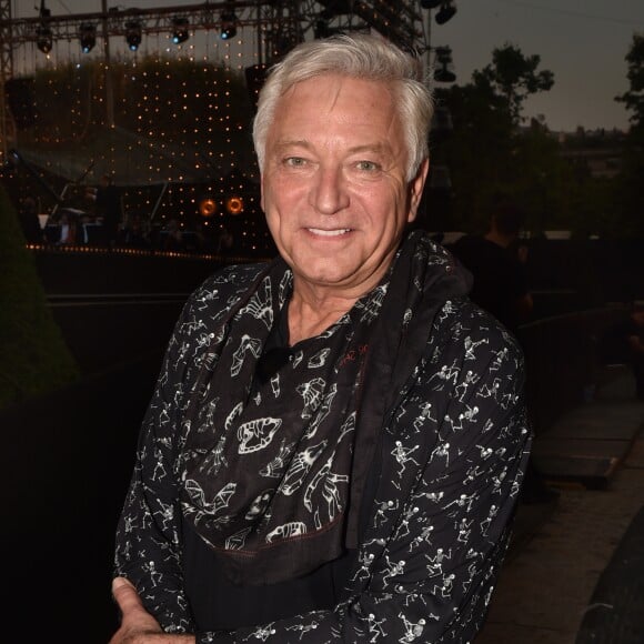
[{"label": "grid of small warm string lights behind the stage at left", "polygon": [[[81,29],[85,26],[87,30]],[[98,134],[101,144],[92,150],[95,169],[82,185],[69,190],[66,203],[92,217],[92,207],[83,201],[84,187],[98,182],[100,173],[110,172],[132,181],[132,185],[125,185],[117,180],[127,214],[148,220],[154,212],[149,219],[153,230],[177,219],[187,239],[192,239],[194,227],[217,238],[224,225],[233,233],[240,253],[256,254],[262,249],[271,249],[272,253],[272,240],[260,211],[259,173],[248,137],[253,108],[243,78],[244,59],[235,49],[241,48],[242,39],[224,46],[220,33],[213,32],[199,63],[163,46],[157,47],[153,54],[114,56],[109,72],[117,128],[104,130],[105,61],[90,58],[79,63],[84,51],[81,34],[93,34],[97,39],[99,36],[98,27],[93,30],[89,27],[94,26],[80,26],[76,43],[69,43],[71,49],[59,50],[52,67],[36,72],[38,91],[48,97],[51,105],[30,132],[33,149],[48,151],[41,154],[39,163],[44,180],[59,182],[69,172],[69,168],[62,169],[63,159],[69,159],[68,150],[80,151],[77,155],[80,168],[87,152],[78,148],[79,132]],[[139,47],[141,23],[130,20],[127,28],[124,32],[134,36]],[[128,49],[132,50],[131,44],[123,39],[121,50]],[[240,168],[244,169],[243,181],[238,179]],[[23,195],[33,191],[28,181],[23,184]],[[161,185],[167,185],[164,193]],[[51,208],[46,201],[42,212],[51,212]],[[56,248],[72,252],[69,248]],[[92,252],[89,249],[77,242],[73,252]]]}]

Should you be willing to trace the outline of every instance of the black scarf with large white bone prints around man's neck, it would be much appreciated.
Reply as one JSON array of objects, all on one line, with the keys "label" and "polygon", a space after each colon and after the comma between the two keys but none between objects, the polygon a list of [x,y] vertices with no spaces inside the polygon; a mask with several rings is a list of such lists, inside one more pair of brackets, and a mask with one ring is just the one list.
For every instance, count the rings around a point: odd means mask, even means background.
[{"label": "black scarf with large white bone prints around man's neck", "polygon": [[446,293],[465,291],[436,250],[410,234],[381,284],[290,349],[275,333],[292,274],[276,260],[212,334],[184,423],[182,507],[233,583],[293,578],[358,545],[381,427]]}]

